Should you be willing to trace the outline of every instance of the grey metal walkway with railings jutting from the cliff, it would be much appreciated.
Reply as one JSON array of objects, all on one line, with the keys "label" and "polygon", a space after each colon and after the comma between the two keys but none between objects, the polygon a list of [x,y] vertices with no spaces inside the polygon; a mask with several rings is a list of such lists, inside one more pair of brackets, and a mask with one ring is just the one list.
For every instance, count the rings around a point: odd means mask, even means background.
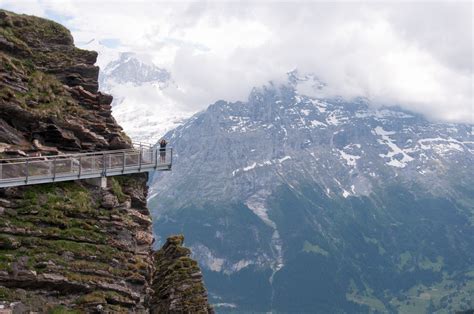
[{"label": "grey metal walkway with railings jutting from the cliff", "polygon": [[171,170],[173,150],[143,144],[94,153],[0,159],[0,188]]}]

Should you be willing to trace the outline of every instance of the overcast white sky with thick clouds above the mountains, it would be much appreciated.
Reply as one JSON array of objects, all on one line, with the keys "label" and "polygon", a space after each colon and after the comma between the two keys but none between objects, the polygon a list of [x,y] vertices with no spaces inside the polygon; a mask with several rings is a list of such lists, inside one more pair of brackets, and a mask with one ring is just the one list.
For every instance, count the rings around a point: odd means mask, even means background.
[{"label": "overcast white sky with thick clouds above the mountains", "polygon": [[[245,100],[297,68],[326,93],[365,96],[433,120],[474,123],[473,4],[465,2],[157,2],[0,0],[54,19],[101,65],[133,51],[169,70],[193,110]],[[173,95],[172,95],[173,96]]]}]

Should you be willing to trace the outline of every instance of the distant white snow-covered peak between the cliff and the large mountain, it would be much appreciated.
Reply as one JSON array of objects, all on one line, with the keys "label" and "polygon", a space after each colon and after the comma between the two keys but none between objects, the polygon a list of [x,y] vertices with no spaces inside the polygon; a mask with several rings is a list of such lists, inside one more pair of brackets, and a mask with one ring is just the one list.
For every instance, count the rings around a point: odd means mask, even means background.
[{"label": "distant white snow-covered peak between the cliff and the large mountain", "polygon": [[176,104],[171,74],[135,53],[124,52],[100,72],[100,89],[114,96],[112,111],[125,132],[137,142],[156,142],[194,111]]}]

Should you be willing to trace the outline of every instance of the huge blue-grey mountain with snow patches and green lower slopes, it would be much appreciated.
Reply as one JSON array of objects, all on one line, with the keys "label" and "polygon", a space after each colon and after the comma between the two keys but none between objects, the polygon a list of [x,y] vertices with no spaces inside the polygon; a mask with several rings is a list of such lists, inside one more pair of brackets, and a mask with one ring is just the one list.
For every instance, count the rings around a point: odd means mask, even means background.
[{"label": "huge blue-grey mountain with snow patches and green lower slopes", "polygon": [[473,126],[304,96],[307,79],[219,101],[166,135],[158,237],[184,232],[214,301],[241,310],[472,307]]}]

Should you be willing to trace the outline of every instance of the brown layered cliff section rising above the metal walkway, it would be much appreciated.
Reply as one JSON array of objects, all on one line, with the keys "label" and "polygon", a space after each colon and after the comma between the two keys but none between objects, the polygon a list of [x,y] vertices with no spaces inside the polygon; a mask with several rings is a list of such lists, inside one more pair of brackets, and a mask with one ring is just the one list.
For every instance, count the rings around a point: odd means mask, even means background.
[{"label": "brown layered cliff section rising above the metal walkway", "polygon": [[[98,92],[97,53],[44,19],[0,12],[0,140],[3,150],[51,154],[130,147]],[[3,44],[2,44],[3,43]]]}]

